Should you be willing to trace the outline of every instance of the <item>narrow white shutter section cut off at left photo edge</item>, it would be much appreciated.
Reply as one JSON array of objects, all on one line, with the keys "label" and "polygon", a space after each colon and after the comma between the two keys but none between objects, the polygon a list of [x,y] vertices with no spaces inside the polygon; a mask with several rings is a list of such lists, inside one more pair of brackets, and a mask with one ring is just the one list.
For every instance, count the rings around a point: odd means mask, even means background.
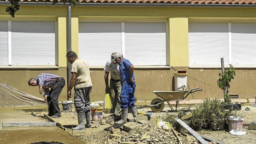
[{"label": "narrow white shutter section cut off at left photo edge", "polygon": [[0,65],[8,65],[8,22],[0,22]]}]

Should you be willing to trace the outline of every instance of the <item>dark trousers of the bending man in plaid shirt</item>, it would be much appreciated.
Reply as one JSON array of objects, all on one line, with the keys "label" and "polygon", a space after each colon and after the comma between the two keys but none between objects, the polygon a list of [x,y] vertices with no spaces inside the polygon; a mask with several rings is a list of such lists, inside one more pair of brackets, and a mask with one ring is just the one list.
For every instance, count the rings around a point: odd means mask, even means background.
[{"label": "dark trousers of the bending man in plaid shirt", "polygon": [[58,98],[60,96],[62,88],[65,86],[65,79],[60,78],[56,81],[53,88],[50,90],[50,96],[47,97],[48,112],[50,115],[60,115],[61,110],[59,108]]}]

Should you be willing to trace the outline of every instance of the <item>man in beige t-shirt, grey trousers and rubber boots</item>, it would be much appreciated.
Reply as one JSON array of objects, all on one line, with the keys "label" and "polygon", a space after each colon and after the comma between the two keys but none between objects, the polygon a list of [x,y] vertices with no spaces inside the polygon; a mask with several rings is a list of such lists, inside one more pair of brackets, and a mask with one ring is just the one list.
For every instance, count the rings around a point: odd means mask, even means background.
[{"label": "man in beige t-shirt, grey trousers and rubber boots", "polygon": [[[73,130],[85,129],[91,127],[90,115],[90,92],[92,90],[92,81],[89,65],[87,61],[77,57],[77,54],[70,51],[66,55],[69,63],[72,64],[71,79],[68,87],[68,96],[71,98],[71,90],[74,86],[74,104],[77,110],[78,125]],[[86,120],[86,124],[85,124]]]}]

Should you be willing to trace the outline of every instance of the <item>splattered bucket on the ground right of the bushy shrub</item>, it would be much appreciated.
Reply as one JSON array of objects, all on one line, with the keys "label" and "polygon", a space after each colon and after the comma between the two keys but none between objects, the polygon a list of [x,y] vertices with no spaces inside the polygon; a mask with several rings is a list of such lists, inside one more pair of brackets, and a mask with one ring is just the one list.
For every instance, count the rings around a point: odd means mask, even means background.
[{"label": "splattered bucket on the ground right of the bushy shrub", "polygon": [[229,125],[229,131],[232,129],[236,131],[242,131],[243,128],[243,117],[237,116],[236,118],[234,116],[228,117],[228,125]]}]

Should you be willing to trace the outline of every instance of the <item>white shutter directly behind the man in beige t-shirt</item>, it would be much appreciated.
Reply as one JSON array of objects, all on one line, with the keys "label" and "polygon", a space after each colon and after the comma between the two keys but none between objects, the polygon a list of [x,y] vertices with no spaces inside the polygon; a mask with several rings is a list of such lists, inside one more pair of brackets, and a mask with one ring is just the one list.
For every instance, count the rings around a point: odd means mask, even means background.
[{"label": "white shutter directly behind the man in beige t-shirt", "polygon": [[79,58],[102,66],[122,52],[121,23],[79,23]]}]

